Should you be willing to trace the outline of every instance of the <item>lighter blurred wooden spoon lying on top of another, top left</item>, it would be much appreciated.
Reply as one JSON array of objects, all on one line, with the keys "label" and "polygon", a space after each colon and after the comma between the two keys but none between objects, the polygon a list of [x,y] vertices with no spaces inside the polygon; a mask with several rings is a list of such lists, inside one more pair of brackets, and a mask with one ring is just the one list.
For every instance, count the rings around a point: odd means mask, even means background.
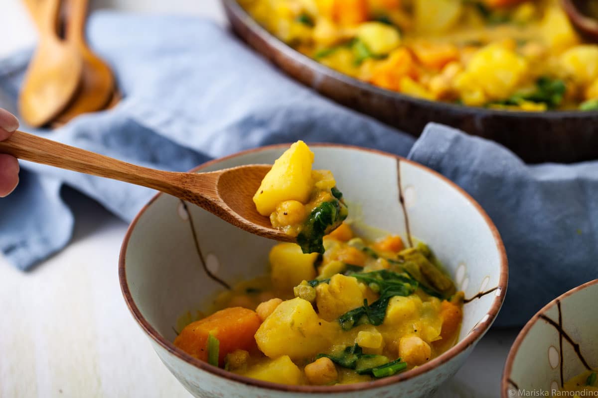
[{"label": "lighter blurred wooden spoon lying on top of another, top left", "polygon": [[59,115],[77,94],[83,60],[56,32],[60,0],[44,0],[38,14],[39,44],[20,92],[25,122],[40,127]]}]

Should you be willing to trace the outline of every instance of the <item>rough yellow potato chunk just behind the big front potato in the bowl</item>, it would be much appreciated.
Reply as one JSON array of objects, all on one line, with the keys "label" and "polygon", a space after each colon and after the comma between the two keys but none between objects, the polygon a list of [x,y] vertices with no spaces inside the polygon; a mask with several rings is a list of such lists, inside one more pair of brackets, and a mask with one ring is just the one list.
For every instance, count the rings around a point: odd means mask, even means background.
[{"label": "rough yellow potato chunk just behind the big front potato in the bowl", "polygon": [[364,305],[364,296],[359,282],[354,277],[336,274],[330,283],[316,286],[316,306],[320,316],[335,320],[347,311]]}]

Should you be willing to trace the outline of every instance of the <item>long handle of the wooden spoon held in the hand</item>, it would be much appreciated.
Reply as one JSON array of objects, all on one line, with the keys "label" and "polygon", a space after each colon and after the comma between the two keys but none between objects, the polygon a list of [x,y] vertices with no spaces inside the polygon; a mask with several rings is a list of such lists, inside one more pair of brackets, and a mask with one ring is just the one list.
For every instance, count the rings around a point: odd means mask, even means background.
[{"label": "long handle of the wooden spoon held in the hand", "polygon": [[187,181],[187,173],[136,166],[26,132],[16,131],[8,140],[0,141],[0,153],[8,153],[24,161],[141,185],[178,198],[187,195],[182,188]]}]

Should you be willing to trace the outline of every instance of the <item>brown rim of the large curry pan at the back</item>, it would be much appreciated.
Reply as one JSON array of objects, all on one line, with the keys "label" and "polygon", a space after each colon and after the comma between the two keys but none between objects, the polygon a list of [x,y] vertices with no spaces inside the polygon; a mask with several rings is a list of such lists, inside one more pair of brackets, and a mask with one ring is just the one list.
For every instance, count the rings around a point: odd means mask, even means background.
[{"label": "brown rim of the large curry pan at the back", "polygon": [[[444,101],[434,101],[434,100],[426,100],[425,98],[417,98],[411,95],[403,94],[402,92],[387,90],[386,88],[382,88],[373,84],[370,84],[365,81],[361,81],[359,79],[353,78],[352,76],[346,75],[345,73],[338,72],[335,69],[332,69],[328,66],[325,66],[318,61],[307,57],[300,53],[299,51],[295,50],[272,33],[270,33],[266,28],[261,26],[252,16],[249,14],[237,0],[220,0],[222,6],[224,7],[225,11],[227,11],[227,19],[228,22],[233,24],[233,20],[231,19],[231,13],[237,20],[243,23],[248,29],[251,29],[251,32],[258,35],[261,40],[266,42],[271,48],[274,48],[276,51],[284,54],[285,57],[289,57],[292,60],[300,63],[301,65],[308,67],[311,70],[315,70],[318,73],[322,73],[322,75],[327,76],[328,78],[335,79],[337,81],[343,82],[344,84],[350,85],[352,87],[359,88],[360,90],[364,90],[370,92],[371,94],[376,94],[386,98],[393,98],[398,99],[401,101],[407,101],[413,104],[417,104],[418,106],[425,106],[429,107],[433,110],[443,111],[443,112],[454,112],[461,116],[463,115],[480,115],[480,116],[487,116],[487,115],[498,115],[503,116],[505,118],[525,118],[525,119],[555,119],[555,118],[573,118],[573,119],[584,119],[591,116],[596,116],[598,114],[598,110],[544,110],[542,112],[526,112],[523,110],[502,110],[502,109],[491,109],[491,108],[484,108],[484,107],[476,107],[476,106],[467,106],[467,105],[459,105],[448,103]],[[245,39],[243,39],[245,42]],[[251,44],[247,44],[249,47],[252,48],[254,53],[258,53],[263,55],[260,51],[255,50],[255,48]],[[276,64],[277,69],[283,70],[284,69]],[[286,71],[284,71],[286,75]],[[298,81],[296,78],[292,78],[294,81]]]}]

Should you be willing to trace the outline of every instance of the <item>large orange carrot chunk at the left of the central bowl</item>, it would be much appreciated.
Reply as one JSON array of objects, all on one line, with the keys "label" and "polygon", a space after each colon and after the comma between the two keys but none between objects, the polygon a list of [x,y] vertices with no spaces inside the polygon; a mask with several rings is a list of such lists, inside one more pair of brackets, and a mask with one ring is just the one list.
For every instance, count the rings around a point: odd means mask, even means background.
[{"label": "large orange carrot chunk at the left of the central bowl", "polygon": [[208,335],[220,342],[218,365],[224,366],[224,358],[234,350],[252,351],[255,332],[261,320],[255,311],[242,307],[225,308],[212,315],[185,326],[175,338],[176,347],[198,359],[208,361]]}]

